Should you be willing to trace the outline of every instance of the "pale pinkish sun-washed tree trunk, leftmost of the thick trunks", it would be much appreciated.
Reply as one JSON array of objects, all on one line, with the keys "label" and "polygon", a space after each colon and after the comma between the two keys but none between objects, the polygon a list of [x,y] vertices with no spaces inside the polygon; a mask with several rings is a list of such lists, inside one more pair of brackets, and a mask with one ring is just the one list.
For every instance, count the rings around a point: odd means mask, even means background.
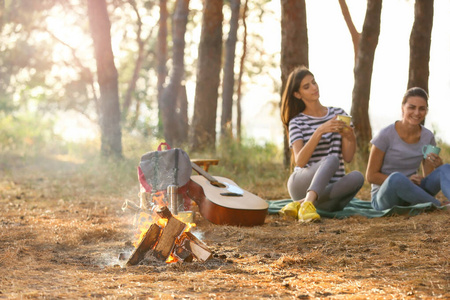
[{"label": "pale pinkish sun-washed tree trunk, leftmost of the thick trunks", "polygon": [[118,74],[111,47],[111,23],[105,0],[87,1],[100,86],[101,153],[122,157]]}]

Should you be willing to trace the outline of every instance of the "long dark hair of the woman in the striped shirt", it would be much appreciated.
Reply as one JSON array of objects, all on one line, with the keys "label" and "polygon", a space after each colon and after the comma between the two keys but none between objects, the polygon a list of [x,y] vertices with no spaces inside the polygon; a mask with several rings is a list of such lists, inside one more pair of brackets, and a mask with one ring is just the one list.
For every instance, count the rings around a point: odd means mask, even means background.
[{"label": "long dark hair of the woman in the striped shirt", "polygon": [[289,130],[289,122],[306,108],[305,102],[294,96],[294,93],[300,89],[300,83],[306,75],[314,76],[305,66],[296,67],[286,81],[286,87],[281,97],[281,121],[286,132]]}]

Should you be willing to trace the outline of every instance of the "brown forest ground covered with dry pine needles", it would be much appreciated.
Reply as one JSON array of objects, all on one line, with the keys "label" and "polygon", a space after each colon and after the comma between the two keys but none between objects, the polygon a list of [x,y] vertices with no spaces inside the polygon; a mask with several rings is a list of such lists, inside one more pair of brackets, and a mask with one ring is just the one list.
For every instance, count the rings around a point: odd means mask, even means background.
[{"label": "brown forest ground covered with dry pine needles", "polygon": [[132,189],[92,193],[76,169],[13,172],[8,163],[0,162],[0,299],[450,298],[447,211],[312,224],[269,215],[249,228],[197,216],[209,261],[150,257],[123,267],[134,228],[121,207]]}]

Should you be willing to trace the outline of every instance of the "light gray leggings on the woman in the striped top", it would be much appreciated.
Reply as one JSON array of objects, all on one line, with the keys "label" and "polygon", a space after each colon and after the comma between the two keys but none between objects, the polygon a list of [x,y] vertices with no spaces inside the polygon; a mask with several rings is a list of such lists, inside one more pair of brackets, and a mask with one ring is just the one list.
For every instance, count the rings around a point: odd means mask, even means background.
[{"label": "light gray leggings on the woman in the striped top", "polygon": [[330,179],[339,169],[339,158],[330,155],[310,167],[295,171],[289,177],[287,187],[293,200],[305,198],[308,191],[317,193],[314,206],[325,211],[342,210],[355,197],[364,184],[364,176],[352,171],[338,181]]}]

